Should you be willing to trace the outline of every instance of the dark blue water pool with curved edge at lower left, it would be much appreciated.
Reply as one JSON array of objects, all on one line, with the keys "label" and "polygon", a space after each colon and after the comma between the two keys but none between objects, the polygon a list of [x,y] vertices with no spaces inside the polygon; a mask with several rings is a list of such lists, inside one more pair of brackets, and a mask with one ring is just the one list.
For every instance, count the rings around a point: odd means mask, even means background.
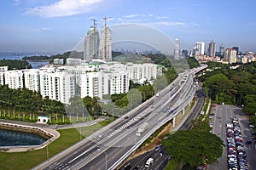
[{"label": "dark blue water pool with curved edge at lower left", "polygon": [[40,145],[46,140],[34,133],[0,129],[0,146]]}]

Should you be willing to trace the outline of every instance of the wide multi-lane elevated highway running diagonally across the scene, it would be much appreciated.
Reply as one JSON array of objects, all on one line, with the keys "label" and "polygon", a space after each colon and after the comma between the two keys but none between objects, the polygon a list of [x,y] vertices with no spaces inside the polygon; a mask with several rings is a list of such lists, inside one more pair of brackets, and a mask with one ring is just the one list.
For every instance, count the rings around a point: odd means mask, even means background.
[{"label": "wide multi-lane elevated highway running diagonally across the scene", "polygon": [[[34,169],[114,169],[158,127],[172,120],[189,104],[195,94],[194,73],[193,70],[180,74],[160,92],[160,96],[148,99],[117,121],[103,127],[97,132],[102,134],[101,139],[94,139],[94,133]],[[168,108],[170,103],[172,106]],[[164,108],[168,108],[168,111],[164,112]],[[144,122],[148,122],[148,128],[141,136],[137,136],[137,128]]]}]

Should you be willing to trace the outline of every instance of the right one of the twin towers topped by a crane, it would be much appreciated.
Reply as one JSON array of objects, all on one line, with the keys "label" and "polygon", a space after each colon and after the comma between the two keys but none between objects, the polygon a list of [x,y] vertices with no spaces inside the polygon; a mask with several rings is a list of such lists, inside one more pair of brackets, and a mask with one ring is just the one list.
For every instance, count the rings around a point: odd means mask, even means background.
[{"label": "right one of the twin towers topped by a crane", "polygon": [[100,57],[107,61],[112,61],[112,44],[111,44],[111,30],[107,27],[106,20],[104,26],[101,29],[101,40],[100,40]]}]

